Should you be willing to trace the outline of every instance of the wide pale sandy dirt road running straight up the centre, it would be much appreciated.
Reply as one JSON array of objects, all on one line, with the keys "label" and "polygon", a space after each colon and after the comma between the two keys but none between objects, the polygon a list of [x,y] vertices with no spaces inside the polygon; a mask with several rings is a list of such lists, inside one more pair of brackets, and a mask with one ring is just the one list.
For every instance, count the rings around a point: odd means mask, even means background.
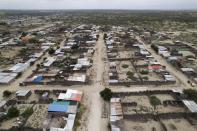
[{"label": "wide pale sandy dirt road running straight up the centre", "polygon": [[90,114],[88,118],[88,131],[105,131],[106,127],[102,125],[101,111],[102,111],[102,100],[99,92],[104,89],[103,86],[103,74],[105,63],[103,58],[106,55],[105,45],[103,41],[103,34],[100,34],[99,40],[96,44],[96,52],[94,54],[93,68],[96,72],[92,88],[95,88],[93,92],[89,94],[91,99]]}]

